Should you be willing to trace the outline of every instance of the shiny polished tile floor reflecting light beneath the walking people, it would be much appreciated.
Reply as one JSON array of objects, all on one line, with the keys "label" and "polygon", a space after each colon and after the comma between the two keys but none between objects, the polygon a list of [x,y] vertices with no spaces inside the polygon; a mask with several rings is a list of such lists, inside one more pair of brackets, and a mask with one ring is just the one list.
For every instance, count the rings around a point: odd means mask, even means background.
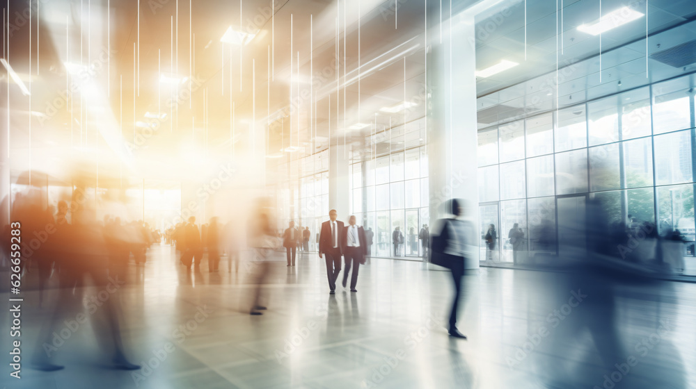
[{"label": "shiny polished tile floor reflecting light beneath the walking people", "polygon": [[[150,365],[138,372],[99,362],[91,324],[56,353],[65,370],[30,370],[30,351],[49,309],[38,306],[36,292],[26,294],[22,380],[8,378],[3,363],[0,386],[696,388],[693,283],[617,288],[617,336],[637,365],[617,358],[612,372],[606,368],[611,361],[602,363],[595,347],[606,338],[575,320],[583,317],[583,306],[603,296],[565,306],[576,290],[557,282],[557,274],[494,268],[468,274],[459,308],[459,329],[468,340],[456,340],[443,328],[450,273],[423,263],[374,258],[361,267],[357,293],[339,286],[329,295],[324,260],[300,254],[296,267],[286,267],[285,254],[278,253],[263,288],[268,310],[261,316],[248,315],[253,267],[242,263],[239,272],[228,272],[225,258],[220,266],[219,273],[209,273],[204,260],[200,272],[187,272],[171,247],[153,245],[143,267],[129,267],[128,283],[118,290],[121,332],[129,359]],[[556,312],[563,312],[555,316],[563,320],[549,318]],[[10,347],[7,333],[3,329],[0,337],[3,355]],[[642,346],[646,340],[649,348]],[[612,374],[615,381],[607,382]]]}]

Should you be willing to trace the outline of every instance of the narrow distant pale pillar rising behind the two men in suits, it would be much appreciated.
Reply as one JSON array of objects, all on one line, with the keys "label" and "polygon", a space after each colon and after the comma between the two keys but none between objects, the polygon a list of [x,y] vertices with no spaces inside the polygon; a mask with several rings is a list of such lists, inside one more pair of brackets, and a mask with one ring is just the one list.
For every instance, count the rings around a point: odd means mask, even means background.
[{"label": "narrow distant pale pillar rising behind the two men in suits", "polygon": [[343,144],[334,144],[329,147],[329,208],[328,211],[335,209],[338,212],[338,220],[348,220],[350,207],[349,197],[349,176],[348,176],[348,156],[347,147]]}]

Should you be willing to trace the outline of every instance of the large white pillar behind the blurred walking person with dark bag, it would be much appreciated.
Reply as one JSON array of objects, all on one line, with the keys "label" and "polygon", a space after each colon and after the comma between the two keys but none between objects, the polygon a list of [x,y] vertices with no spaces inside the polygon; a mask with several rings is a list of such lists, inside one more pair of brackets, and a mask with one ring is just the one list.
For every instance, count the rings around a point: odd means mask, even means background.
[{"label": "large white pillar behind the blurred walking person with dark bag", "polygon": [[[443,201],[466,201],[466,219],[475,227],[467,245],[478,245],[476,52],[473,13],[446,17],[429,1],[427,17],[427,127],[430,220],[445,217]],[[440,33],[442,31],[442,33]],[[432,223],[432,225],[434,225]],[[438,231],[432,231],[438,233]],[[466,269],[479,267],[478,251]],[[475,251],[475,252],[473,252]]]}]

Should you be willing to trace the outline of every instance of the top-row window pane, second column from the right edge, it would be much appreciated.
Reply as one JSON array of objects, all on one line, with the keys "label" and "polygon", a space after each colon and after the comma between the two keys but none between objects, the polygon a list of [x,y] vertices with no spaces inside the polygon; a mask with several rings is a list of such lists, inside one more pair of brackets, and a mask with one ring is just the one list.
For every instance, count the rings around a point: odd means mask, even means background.
[{"label": "top-row window pane, second column from the right edge", "polygon": [[622,104],[622,139],[640,138],[650,135],[650,90],[648,87],[619,95]]}]

